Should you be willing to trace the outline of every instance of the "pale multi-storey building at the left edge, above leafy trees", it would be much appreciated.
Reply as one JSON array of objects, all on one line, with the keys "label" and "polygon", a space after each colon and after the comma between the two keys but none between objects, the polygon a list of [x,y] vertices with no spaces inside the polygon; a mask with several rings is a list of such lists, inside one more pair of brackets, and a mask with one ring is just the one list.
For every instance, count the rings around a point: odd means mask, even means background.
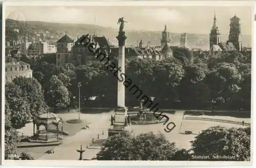
[{"label": "pale multi-storey building at the left edge, above leafy trees", "polygon": [[7,57],[5,63],[5,82],[12,82],[16,77],[32,78],[30,65],[15,58]]}]

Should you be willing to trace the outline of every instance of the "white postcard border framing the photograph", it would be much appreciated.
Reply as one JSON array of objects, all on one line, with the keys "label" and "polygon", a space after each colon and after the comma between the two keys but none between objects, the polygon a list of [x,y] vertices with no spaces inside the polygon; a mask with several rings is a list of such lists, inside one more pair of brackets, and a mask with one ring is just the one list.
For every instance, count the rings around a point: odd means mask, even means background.
[{"label": "white postcard border framing the photograph", "polygon": [[[75,4],[75,5],[74,5]],[[6,6],[251,6],[252,9],[254,7],[253,1],[103,1],[103,2],[61,2],[60,1],[52,1],[51,3],[47,3],[46,1],[27,1],[27,2],[3,2],[3,20],[2,20],[2,133],[4,135],[5,132],[5,18],[6,18]],[[255,9],[255,8],[254,8]],[[254,23],[254,10],[252,10],[252,44],[256,46],[254,27],[256,27],[256,23]],[[252,46],[253,46],[252,45]],[[256,50],[252,47],[252,64],[255,64],[256,58]],[[252,66],[252,69],[253,66]],[[252,70],[252,85],[255,84],[255,78],[253,77]],[[253,119],[253,87],[251,88],[251,120]],[[253,122],[251,121],[251,129],[253,128]],[[253,133],[255,133],[255,129]],[[251,147],[253,147],[253,151],[256,147],[252,144],[253,137],[251,135]],[[95,165],[125,165],[125,166],[134,166],[134,165],[150,165],[150,166],[250,166],[252,165],[252,150],[251,150],[251,161],[96,161],[96,160],[86,160],[86,161],[78,161],[78,160],[5,160],[4,159],[4,136],[2,136],[2,165],[4,166],[95,166]],[[255,144],[255,143],[254,143]],[[251,148],[252,149],[252,148]],[[254,161],[255,162],[255,161]]]}]

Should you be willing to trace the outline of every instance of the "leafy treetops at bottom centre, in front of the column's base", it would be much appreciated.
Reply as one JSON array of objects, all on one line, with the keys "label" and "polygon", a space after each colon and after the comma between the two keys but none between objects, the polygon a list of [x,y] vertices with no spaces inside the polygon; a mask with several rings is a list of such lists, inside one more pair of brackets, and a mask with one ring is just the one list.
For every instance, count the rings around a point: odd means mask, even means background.
[{"label": "leafy treetops at bottom centre, in front of the column's base", "polygon": [[177,148],[163,134],[117,134],[104,142],[98,160],[172,160]]}]

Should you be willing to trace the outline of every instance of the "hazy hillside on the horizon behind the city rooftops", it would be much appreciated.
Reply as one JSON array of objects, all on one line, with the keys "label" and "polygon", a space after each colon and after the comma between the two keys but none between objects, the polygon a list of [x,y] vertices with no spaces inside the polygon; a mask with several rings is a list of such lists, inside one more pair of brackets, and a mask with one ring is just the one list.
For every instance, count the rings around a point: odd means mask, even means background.
[{"label": "hazy hillside on the horizon behind the city rooftops", "polygon": [[[18,29],[19,32],[13,32]],[[83,34],[96,34],[97,36],[105,36],[117,45],[118,29],[101,27],[88,24],[69,24],[69,23],[52,23],[42,21],[17,21],[12,19],[6,20],[6,41],[16,40],[20,37],[40,37],[42,40],[57,41],[65,32],[73,38]],[[186,33],[186,32],[184,32]],[[150,45],[160,45],[161,31],[126,31],[126,45],[137,45],[137,41],[142,39],[143,44],[146,45],[150,41]],[[221,41],[226,41],[228,35],[222,34]],[[170,32],[170,45],[180,44],[180,33]],[[242,35],[243,46],[251,46],[251,36]],[[197,47],[203,50],[209,49],[209,35],[208,34],[187,34],[187,46]]]}]

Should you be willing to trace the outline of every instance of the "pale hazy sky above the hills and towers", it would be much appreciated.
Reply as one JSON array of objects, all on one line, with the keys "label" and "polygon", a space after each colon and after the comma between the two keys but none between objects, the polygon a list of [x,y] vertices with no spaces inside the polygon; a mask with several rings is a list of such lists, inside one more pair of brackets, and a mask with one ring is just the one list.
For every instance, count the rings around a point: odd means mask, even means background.
[{"label": "pale hazy sky above the hills and towers", "polygon": [[124,30],[162,31],[167,25],[173,33],[208,34],[216,12],[217,26],[229,33],[230,18],[241,18],[241,31],[251,35],[249,6],[7,6],[6,18],[59,23],[86,23],[118,29],[124,17]]}]

